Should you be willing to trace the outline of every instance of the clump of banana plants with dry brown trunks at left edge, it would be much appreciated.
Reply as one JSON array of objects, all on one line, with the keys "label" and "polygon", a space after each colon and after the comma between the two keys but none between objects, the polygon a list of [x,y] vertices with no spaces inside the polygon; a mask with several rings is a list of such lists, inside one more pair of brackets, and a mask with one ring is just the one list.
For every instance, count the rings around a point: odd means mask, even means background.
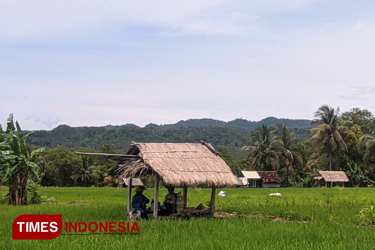
[{"label": "clump of banana plants with dry brown trunks at left edge", "polygon": [[2,181],[9,185],[9,204],[27,203],[27,180],[34,176],[38,178],[39,152],[44,148],[33,151],[27,147],[27,138],[33,132],[23,135],[18,122],[13,122],[13,115],[7,119],[5,131],[0,131],[3,141],[1,142],[1,167],[4,169]]}]

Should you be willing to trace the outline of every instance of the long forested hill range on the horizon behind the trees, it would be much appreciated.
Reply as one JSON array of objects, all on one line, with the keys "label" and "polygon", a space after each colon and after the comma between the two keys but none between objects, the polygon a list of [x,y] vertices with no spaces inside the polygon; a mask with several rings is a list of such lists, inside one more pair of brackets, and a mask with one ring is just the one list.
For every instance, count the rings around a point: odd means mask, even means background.
[{"label": "long forested hill range on the horizon behind the trees", "polygon": [[103,140],[108,140],[117,149],[124,151],[133,141],[145,142],[198,142],[205,140],[213,143],[217,150],[222,147],[239,148],[249,139],[249,133],[261,124],[276,125],[283,123],[293,128],[297,136],[307,137],[310,121],[305,119],[279,119],[267,117],[260,121],[234,119],[221,121],[215,119],[188,119],[174,124],[148,124],[139,127],[134,124],[106,125],[100,127],[70,127],[59,125],[50,131],[39,130],[30,136],[29,143],[36,146],[68,148],[88,147],[97,149]]}]

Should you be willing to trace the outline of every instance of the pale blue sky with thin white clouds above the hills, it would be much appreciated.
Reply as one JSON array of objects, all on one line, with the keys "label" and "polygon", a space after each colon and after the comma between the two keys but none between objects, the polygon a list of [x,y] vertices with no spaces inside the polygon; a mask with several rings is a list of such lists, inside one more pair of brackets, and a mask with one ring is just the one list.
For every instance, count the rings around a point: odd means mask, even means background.
[{"label": "pale blue sky with thin white clouds above the hills", "polygon": [[373,0],[0,0],[0,123],[375,113]]}]

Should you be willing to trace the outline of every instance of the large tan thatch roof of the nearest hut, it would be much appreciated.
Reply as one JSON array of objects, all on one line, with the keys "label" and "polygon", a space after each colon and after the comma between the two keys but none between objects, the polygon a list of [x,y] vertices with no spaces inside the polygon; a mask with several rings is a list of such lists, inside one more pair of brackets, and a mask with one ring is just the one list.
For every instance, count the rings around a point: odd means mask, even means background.
[{"label": "large tan thatch roof of the nearest hut", "polygon": [[156,172],[165,184],[173,186],[231,186],[238,182],[229,166],[212,145],[202,143],[136,143],[129,154],[139,160],[119,163],[122,177],[133,177],[145,171]]}]

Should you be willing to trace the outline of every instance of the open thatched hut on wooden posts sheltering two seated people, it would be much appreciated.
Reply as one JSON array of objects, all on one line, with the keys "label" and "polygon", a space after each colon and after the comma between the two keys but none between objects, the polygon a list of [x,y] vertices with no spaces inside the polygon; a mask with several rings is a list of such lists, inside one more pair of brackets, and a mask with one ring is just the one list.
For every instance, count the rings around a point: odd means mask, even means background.
[{"label": "open thatched hut on wooden posts sheltering two seated people", "polygon": [[[127,154],[84,153],[102,155],[118,160],[116,172],[121,178],[129,178],[127,213],[131,207],[131,186],[134,177],[141,174],[155,176],[154,202],[158,202],[160,180],[166,185],[183,187],[183,207],[186,206],[187,187],[205,185],[211,187],[209,214],[213,215],[216,187],[235,186],[237,179],[225,161],[218,156],[214,147],[201,143],[137,143],[132,142]],[[157,206],[153,217],[157,218]]]}]

